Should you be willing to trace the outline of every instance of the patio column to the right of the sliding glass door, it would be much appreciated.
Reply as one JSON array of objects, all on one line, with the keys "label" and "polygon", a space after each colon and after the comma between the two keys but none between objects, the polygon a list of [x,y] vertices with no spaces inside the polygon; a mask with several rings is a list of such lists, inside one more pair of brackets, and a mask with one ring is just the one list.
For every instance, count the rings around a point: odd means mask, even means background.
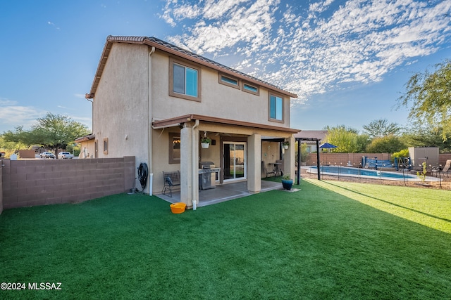
[{"label": "patio column to the right of the sliding glass door", "polygon": [[261,190],[261,135],[247,138],[247,190],[259,193]]}]

